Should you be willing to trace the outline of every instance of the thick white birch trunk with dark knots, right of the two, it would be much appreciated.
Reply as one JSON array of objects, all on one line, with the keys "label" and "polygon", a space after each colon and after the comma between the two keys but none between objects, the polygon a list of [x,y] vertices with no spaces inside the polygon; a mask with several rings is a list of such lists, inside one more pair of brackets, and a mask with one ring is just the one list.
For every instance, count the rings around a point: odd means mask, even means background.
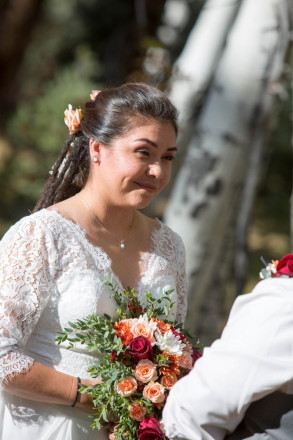
[{"label": "thick white birch trunk with dark knots, right of the two", "polygon": [[[214,7],[220,3],[211,2]],[[263,146],[274,103],[271,84],[284,70],[291,16],[290,0],[243,0],[236,19],[226,20],[232,23],[226,45],[165,213],[166,223],[186,247],[186,325],[204,343],[218,334],[223,303],[219,284],[221,277],[227,278],[228,267],[223,261],[229,260],[228,250],[233,248],[230,231],[235,234],[251,154]],[[206,26],[216,33],[216,28]],[[205,54],[201,56],[204,63]],[[191,87],[188,77],[185,80],[186,87],[184,77],[179,80],[183,95]],[[177,104],[180,87],[172,89],[170,96]],[[195,90],[190,94],[196,96]],[[190,118],[192,102],[179,103],[182,112],[186,106],[184,118]]]}]

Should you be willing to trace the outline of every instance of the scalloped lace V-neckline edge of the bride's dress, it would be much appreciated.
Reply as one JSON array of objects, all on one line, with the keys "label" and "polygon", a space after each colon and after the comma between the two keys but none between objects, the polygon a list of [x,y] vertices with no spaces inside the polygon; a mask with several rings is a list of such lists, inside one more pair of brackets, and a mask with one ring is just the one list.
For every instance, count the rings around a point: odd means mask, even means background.
[{"label": "scalloped lace V-neckline edge of the bride's dress", "polygon": [[[108,271],[110,272],[112,279],[115,280],[114,284],[117,287],[119,287],[121,289],[121,291],[124,289],[124,286],[122,285],[120,277],[113,270],[112,259],[110,258],[108,253],[101,246],[95,245],[87,238],[87,233],[84,228],[82,228],[78,223],[76,223],[72,219],[70,219],[70,218],[64,216],[63,214],[61,214],[60,212],[56,211],[55,209],[44,208],[42,211],[46,211],[47,213],[53,213],[56,217],[58,217],[59,219],[61,218],[64,222],[66,222],[73,230],[78,231],[78,233],[85,240],[85,243],[86,243],[86,246],[87,246],[87,249],[89,250],[89,252],[91,252],[95,257],[97,257],[97,254],[103,255],[104,259],[107,261]],[[41,211],[39,211],[39,212],[41,212]],[[140,278],[136,281],[135,285],[131,286],[137,292],[139,292],[139,290],[140,290],[140,286],[141,286],[143,278],[145,277],[145,274],[150,270],[150,266],[151,266],[150,262],[153,262],[153,258],[150,258],[150,256],[157,254],[156,249],[157,249],[158,240],[156,239],[156,237],[157,237],[157,234],[160,233],[163,223],[158,218],[155,218],[155,220],[156,220],[157,224],[153,227],[153,229],[150,233],[150,248],[148,251],[144,252],[139,258],[139,262],[142,262],[143,260],[147,261],[147,264],[145,265],[145,270],[144,270],[144,272],[142,272]],[[146,257],[148,257],[148,258],[146,258]]]}]

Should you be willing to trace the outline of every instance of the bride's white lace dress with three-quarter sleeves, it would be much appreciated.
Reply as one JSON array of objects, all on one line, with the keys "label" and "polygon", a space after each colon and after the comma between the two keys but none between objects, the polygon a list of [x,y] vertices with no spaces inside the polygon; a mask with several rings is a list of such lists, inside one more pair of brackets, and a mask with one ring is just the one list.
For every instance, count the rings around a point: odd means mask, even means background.
[{"label": "bride's white lace dress with three-quarter sleeves", "polygon": [[[158,222],[139,294],[174,288],[171,319],[186,312],[185,252],[181,239]],[[81,346],[58,346],[55,338],[68,321],[91,313],[115,316],[106,275],[122,289],[111,260],[85,232],[56,211],[23,218],[0,242],[0,388],[9,375],[26,372],[34,360],[58,371],[89,378],[92,355]],[[0,440],[104,440],[92,431],[88,413],[66,405],[34,402],[0,392]]]}]

